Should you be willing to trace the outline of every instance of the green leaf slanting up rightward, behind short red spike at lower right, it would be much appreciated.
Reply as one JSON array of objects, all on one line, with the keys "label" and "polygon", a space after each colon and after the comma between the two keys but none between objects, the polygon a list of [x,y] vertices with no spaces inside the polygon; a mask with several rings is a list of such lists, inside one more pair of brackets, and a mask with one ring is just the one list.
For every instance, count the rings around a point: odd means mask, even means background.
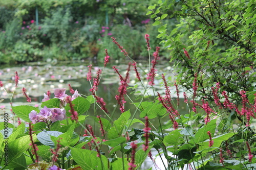
[{"label": "green leaf slanting up rightward, behind short red spike at lower right", "polygon": [[199,143],[209,138],[207,132],[210,131],[211,134],[215,133],[216,120],[212,119],[207,125],[204,125],[203,128],[198,129],[195,134],[195,138],[189,140],[189,143]]}]

